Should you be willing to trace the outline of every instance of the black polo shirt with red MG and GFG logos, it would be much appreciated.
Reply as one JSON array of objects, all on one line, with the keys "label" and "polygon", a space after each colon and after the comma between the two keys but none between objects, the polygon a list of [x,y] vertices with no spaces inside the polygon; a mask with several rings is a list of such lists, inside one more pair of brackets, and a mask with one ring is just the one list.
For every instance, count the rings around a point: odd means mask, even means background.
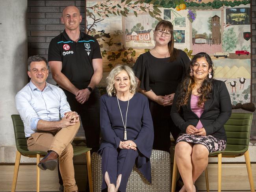
[{"label": "black polo shirt with red MG and GFG logos", "polygon": [[49,45],[48,61],[61,61],[61,72],[78,89],[89,85],[94,73],[92,60],[97,58],[102,58],[98,41],[82,31],[78,42],[64,30]]}]

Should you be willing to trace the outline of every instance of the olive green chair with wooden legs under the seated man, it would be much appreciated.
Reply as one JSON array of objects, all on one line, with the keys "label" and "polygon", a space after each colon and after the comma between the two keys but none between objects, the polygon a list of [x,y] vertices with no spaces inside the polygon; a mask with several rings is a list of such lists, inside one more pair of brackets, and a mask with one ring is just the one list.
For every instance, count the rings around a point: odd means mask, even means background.
[{"label": "olive green chair with wooden legs under the seated man", "polygon": [[[11,115],[11,119],[13,121],[13,128],[14,128],[14,135],[15,135],[15,143],[16,143],[16,159],[15,159],[15,167],[14,167],[14,174],[13,174],[13,183],[11,187],[11,192],[15,192],[17,177],[19,172],[20,166],[20,156],[26,157],[36,157],[37,164],[40,161],[40,157],[44,157],[47,153],[45,151],[28,151],[27,147],[27,140],[24,133],[24,125],[23,122],[18,114]],[[91,174],[91,155],[90,150],[91,148],[87,148],[85,146],[73,146],[74,149],[74,156],[81,155],[85,153],[86,155],[86,164],[87,164],[87,172],[88,172],[88,179],[89,179],[89,188],[90,192],[93,192],[93,181],[92,181],[92,174]],[[40,168],[36,166],[37,169],[37,189],[36,191],[39,192],[39,180],[40,180]]]}]

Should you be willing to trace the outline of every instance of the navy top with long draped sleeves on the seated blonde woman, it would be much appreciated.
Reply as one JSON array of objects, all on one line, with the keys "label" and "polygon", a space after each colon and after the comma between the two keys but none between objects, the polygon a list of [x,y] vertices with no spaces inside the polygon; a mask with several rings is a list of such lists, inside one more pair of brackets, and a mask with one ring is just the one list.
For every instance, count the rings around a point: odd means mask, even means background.
[{"label": "navy top with long draped sleeves on the seated blonde woman", "polygon": [[[117,103],[117,97],[110,97],[104,94],[100,100],[102,140],[98,153],[101,155],[105,147],[119,148],[120,141],[124,141],[124,125]],[[119,103],[125,121],[128,101],[119,101]],[[133,140],[139,151],[136,166],[151,183],[150,155],[154,140],[154,129],[148,106],[148,98],[143,94],[136,93],[130,99],[126,129],[127,140]]]}]

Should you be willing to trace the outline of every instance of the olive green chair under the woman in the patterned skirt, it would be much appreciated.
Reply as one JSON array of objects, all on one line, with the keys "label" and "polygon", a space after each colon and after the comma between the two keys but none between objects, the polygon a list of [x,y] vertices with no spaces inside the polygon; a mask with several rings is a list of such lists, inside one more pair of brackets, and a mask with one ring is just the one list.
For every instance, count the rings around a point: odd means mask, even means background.
[{"label": "olive green chair under the woman in the patterned skirt", "polygon": [[[232,113],[229,120],[224,125],[227,143],[224,151],[215,151],[209,154],[209,157],[218,157],[218,192],[221,192],[221,158],[222,157],[240,157],[245,155],[245,163],[249,177],[250,190],[254,192],[254,183],[252,179],[252,168],[249,157],[250,127],[252,124],[252,113]],[[172,190],[175,191],[177,176],[177,164],[174,155]],[[209,192],[208,171],[205,170],[206,189]]]}]

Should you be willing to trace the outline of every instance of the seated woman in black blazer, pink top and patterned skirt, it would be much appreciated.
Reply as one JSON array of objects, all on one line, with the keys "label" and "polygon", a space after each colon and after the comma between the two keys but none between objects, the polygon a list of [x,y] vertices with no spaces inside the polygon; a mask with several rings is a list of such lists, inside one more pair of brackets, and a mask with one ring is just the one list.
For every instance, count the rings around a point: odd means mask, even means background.
[{"label": "seated woman in black blazer, pink top and patterned skirt", "polygon": [[194,185],[208,165],[208,155],[226,147],[224,124],[232,105],[226,85],[213,79],[213,63],[206,53],[196,54],[189,75],[174,96],[171,117],[181,130],[175,157],[184,182],[180,192],[197,191]]}]

